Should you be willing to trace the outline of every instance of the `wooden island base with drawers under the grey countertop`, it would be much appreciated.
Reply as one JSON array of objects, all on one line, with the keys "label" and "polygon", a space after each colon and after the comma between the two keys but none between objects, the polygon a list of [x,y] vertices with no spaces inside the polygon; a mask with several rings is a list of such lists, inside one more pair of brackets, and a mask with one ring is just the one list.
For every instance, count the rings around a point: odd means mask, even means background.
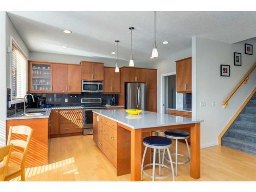
[{"label": "wooden island base with drawers under the grey countertop", "polygon": [[[127,127],[119,126],[119,124],[111,119],[103,116],[93,114],[97,123],[94,123],[94,141],[108,157],[110,162],[116,167],[116,175],[121,176],[131,173],[131,130]],[[97,127],[95,127],[97,126]],[[96,134],[96,135],[95,135]],[[145,132],[142,134],[142,138],[151,136],[151,132]],[[97,139],[96,139],[97,138]],[[144,145],[140,156],[142,157],[144,152]],[[145,163],[151,162],[151,150],[148,148],[145,157]],[[148,167],[151,168],[151,167]]]}]

